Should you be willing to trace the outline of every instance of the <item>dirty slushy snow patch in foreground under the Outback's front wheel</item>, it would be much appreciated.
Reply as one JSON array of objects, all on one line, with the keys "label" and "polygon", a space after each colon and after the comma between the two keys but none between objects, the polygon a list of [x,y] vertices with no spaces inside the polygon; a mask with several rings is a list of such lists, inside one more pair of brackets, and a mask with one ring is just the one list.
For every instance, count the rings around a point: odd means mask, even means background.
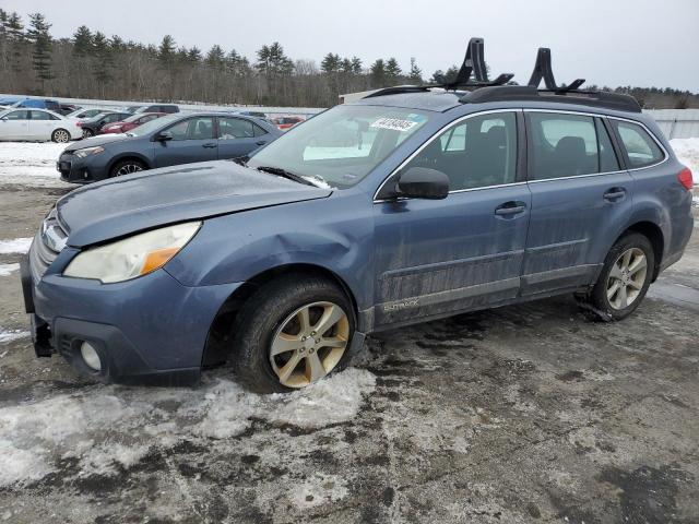
[{"label": "dirty slushy snow patch in foreground under the Outback's front wheel", "polygon": [[209,378],[198,389],[92,385],[7,405],[0,407],[0,487],[38,480],[68,458],[79,461],[79,476],[116,475],[153,448],[229,439],[252,419],[300,428],[347,421],[375,384],[369,371],[351,368],[289,394],[258,395]]}]

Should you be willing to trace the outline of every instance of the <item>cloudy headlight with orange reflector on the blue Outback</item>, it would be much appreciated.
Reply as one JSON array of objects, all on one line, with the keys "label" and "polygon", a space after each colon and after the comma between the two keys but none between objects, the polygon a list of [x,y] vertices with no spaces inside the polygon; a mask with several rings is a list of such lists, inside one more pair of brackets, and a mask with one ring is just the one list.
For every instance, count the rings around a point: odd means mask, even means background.
[{"label": "cloudy headlight with orange reflector on the blue Outback", "polygon": [[200,226],[201,222],[178,224],[88,249],[68,264],[63,275],[105,284],[145,275],[175,257]]}]

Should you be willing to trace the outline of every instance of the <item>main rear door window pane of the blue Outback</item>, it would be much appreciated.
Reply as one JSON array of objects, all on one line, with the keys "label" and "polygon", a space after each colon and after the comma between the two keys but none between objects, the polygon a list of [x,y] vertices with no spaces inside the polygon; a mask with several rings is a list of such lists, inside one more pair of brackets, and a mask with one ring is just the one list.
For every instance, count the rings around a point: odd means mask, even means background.
[{"label": "main rear door window pane of the blue Outback", "polygon": [[594,119],[578,115],[529,114],[533,180],[600,172]]}]

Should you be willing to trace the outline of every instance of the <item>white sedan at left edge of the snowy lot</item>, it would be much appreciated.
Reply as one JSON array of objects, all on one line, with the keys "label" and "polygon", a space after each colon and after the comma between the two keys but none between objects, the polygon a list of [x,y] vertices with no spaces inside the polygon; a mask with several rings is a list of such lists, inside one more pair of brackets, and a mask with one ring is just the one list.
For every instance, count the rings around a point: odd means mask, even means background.
[{"label": "white sedan at left edge of the snowy lot", "polygon": [[69,142],[81,139],[82,129],[74,118],[46,109],[21,108],[0,112],[0,141],[26,140]]}]

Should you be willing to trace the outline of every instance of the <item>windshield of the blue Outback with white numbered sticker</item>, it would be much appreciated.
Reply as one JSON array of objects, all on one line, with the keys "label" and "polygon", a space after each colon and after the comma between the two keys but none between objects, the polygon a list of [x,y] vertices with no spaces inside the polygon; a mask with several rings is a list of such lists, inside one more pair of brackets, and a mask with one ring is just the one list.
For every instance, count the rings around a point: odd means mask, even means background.
[{"label": "windshield of the blue Outback with white numbered sticker", "polygon": [[322,179],[334,188],[348,188],[428,119],[427,112],[415,109],[336,106],[292,128],[254,154],[248,166],[282,168]]}]

